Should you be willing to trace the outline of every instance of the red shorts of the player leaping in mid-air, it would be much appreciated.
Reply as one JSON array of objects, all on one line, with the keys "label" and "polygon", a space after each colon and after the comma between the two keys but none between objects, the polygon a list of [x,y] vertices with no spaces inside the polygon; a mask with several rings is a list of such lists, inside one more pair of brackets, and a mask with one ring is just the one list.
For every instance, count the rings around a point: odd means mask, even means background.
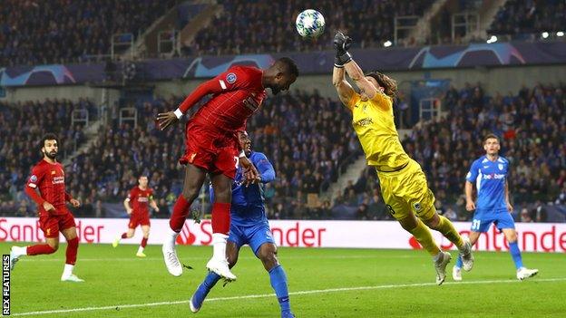
[{"label": "red shorts of the player leaping in mid-air", "polygon": [[189,163],[212,174],[236,177],[239,153],[235,134],[227,135],[189,121],[185,140],[185,154],[179,159],[182,165]]}]

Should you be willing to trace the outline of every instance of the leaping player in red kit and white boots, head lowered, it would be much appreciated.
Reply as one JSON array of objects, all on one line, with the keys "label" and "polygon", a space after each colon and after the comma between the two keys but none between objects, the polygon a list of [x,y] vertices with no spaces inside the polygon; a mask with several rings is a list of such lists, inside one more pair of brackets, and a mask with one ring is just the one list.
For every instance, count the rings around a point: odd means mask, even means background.
[{"label": "leaping player in red kit and white boots, head lowered", "polygon": [[229,271],[226,259],[232,180],[239,165],[245,171],[247,182],[257,182],[259,178],[258,171],[239,149],[236,131],[246,130],[246,121],[258,111],[267,88],[274,94],[287,91],[297,77],[297,64],[287,57],[278,59],[266,70],[232,66],[227,72],[201,83],[176,111],[158,114],[157,120],[164,130],[180,120],[197,101],[212,94],[210,101],[200,107],[185,128],[186,149],[179,160],[186,165],[183,190],[173,207],[169,223],[171,231],[162,247],[165,265],[171,275],[182,274],[175,240],[208,173],[216,199],[212,205],[213,254],[207,268],[227,280],[236,279]]}]

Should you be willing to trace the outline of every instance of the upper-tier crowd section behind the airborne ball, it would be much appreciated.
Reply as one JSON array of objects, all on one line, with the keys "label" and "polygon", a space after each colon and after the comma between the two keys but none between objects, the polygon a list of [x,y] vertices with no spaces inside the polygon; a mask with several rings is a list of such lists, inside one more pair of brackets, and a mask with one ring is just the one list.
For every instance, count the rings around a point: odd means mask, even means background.
[{"label": "upper-tier crowd section behind the airborne ball", "polygon": [[[298,13],[316,7],[324,15],[327,30],[356,31],[355,45],[382,46],[394,38],[395,15],[422,15],[432,0],[394,1],[246,1],[224,0],[223,14],[200,30],[189,52],[192,54],[239,54],[263,52],[320,51],[331,48],[333,32],[313,41],[297,36]],[[292,18],[288,18],[288,17]],[[269,28],[274,24],[278,27]]]}]

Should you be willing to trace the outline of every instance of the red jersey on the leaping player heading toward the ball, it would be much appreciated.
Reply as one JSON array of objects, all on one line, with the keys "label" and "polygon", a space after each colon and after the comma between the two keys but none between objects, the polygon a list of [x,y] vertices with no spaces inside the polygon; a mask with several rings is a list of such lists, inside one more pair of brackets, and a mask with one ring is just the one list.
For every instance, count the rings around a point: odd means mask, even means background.
[{"label": "red jersey on the leaping player heading toward the ball", "polygon": [[[261,83],[262,74],[263,71],[256,67],[230,67],[212,80],[218,82],[217,93],[200,107],[191,120],[215,130],[245,130],[249,116],[258,111],[266,97]],[[249,97],[258,103],[257,108],[244,104]]]}]

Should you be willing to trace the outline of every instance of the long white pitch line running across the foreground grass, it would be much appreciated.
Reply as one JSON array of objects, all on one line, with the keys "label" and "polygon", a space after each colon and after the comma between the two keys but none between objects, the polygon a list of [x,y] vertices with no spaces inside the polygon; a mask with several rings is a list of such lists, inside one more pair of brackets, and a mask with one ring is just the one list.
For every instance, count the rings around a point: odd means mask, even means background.
[{"label": "long white pitch line running across the foreground grass", "polygon": [[[542,278],[542,279],[532,279],[533,283],[547,283],[547,282],[564,282],[566,277],[561,278]],[[490,280],[490,281],[470,281],[470,282],[446,282],[444,284],[512,284],[512,283],[522,283],[521,281],[508,279],[508,280]],[[418,283],[418,284],[382,284],[376,286],[359,286],[359,287],[344,287],[344,288],[329,288],[329,289],[315,289],[310,291],[299,291],[291,292],[289,295],[300,295],[300,294],[327,294],[327,293],[339,293],[339,292],[351,292],[351,291],[361,291],[361,290],[376,290],[376,289],[393,289],[393,288],[407,288],[407,287],[427,287],[435,286],[434,283]],[[273,297],[275,294],[248,294],[243,296],[231,296],[231,297],[217,297],[209,298],[205,302],[219,302],[219,301],[230,301],[239,299],[252,299],[252,298],[267,298]],[[77,312],[91,312],[100,310],[119,310],[122,308],[137,308],[137,307],[152,307],[161,306],[168,304],[188,304],[188,300],[174,301],[174,302],[160,302],[160,303],[147,303],[147,304],[116,304],[112,306],[102,306],[102,307],[83,307],[74,309],[61,309],[61,310],[48,310],[39,312],[27,312],[27,313],[12,313],[13,316],[27,316],[32,314],[51,314],[51,313],[77,313]]]}]

